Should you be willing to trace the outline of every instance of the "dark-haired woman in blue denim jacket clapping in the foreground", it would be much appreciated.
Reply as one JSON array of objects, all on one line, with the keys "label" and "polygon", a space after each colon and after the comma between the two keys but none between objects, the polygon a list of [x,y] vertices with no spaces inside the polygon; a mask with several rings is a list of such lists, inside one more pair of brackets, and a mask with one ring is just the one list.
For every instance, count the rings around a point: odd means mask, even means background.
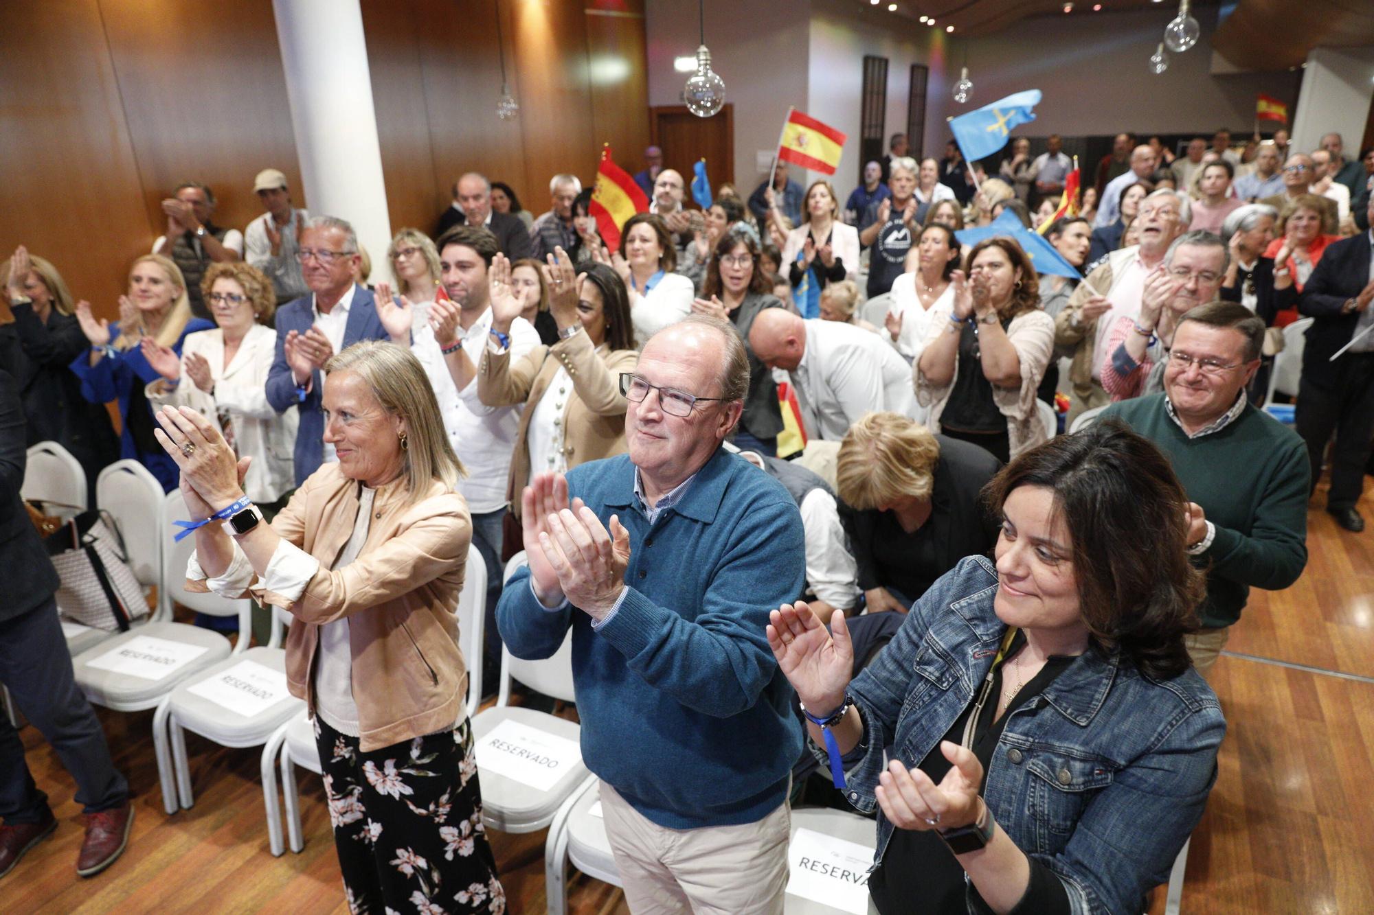
[{"label": "dark-haired woman in blue denim jacket clapping in the foreground", "polygon": [[987,497],[996,563],[936,581],[852,683],[842,614],[783,606],[769,644],[837,783],[879,808],[879,912],[1140,912],[1226,731],[1183,648],[1187,497],[1117,423],[1021,455]]}]

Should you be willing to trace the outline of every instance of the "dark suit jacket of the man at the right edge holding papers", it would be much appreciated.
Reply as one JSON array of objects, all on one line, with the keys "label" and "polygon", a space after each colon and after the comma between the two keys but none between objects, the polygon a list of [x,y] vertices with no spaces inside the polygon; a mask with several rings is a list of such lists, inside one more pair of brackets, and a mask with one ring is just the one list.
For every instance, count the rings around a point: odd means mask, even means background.
[{"label": "dark suit jacket of the man at the right edge holding papers", "polygon": [[1359,295],[1369,282],[1369,232],[1331,242],[1322,251],[1322,260],[1307,278],[1297,304],[1297,310],[1315,319],[1307,328],[1307,346],[1303,349],[1304,382],[1336,383],[1341,360],[1330,361],[1331,354],[1351,342],[1360,319],[1359,312],[1341,315],[1341,306]]}]

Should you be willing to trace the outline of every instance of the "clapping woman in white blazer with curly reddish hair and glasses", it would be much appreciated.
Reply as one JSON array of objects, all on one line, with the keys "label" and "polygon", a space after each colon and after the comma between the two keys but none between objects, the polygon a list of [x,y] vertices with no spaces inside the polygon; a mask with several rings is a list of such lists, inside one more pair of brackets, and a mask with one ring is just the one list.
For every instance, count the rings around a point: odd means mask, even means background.
[{"label": "clapping woman in white blazer with curly reddish hair and glasses", "polygon": [[243,492],[271,514],[294,486],[294,408],[267,403],[267,372],[276,353],[272,283],[243,261],[213,264],[201,283],[214,330],[190,334],[181,357],[157,348],[148,363],[162,378],[147,386],[153,404],[187,405],[212,419],[239,458],[253,458]]}]

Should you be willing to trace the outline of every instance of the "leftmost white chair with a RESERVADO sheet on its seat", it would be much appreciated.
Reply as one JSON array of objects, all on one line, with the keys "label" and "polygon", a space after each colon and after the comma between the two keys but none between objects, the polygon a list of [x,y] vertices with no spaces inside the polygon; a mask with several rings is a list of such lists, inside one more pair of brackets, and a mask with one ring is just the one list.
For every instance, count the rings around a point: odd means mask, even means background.
[{"label": "leftmost white chair with a RESERVADO sheet on its seat", "polygon": [[[140,581],[158,583],[164,574],[161,567],[162,543],[170,540],[169,525],[164,522],[164,517],[185,517],[180,493],[173,492],[164,496],[162,486],[158,485],[153,474],[131,460],[121,460],[107,467],[102,471],[96,485],[98,496],[102,500],[100,507],[110,511],[124,532],[135,574],[139,576]],[[109,501],[106,500],[107,495]],[[192,541],[188,537],[183,543]],[[151,570],[147,567],[150,561],[155,563]],[[180,574],[180,578],[173,580],[184,583],[185,563],[183,562],[180,573],[172,572],[169,574]],[[169,583],[162,581],[159,588],[162,595],[172,589]],[[238,643],[231,648],[229,640],[212,629],[172,622],[169,618],[154,618],[73,658],[76,681],[85,692],[87,699],[115,712],[153,709],[185,680],[224,661],[231,654],[242,654],[247,648],[251,629],[251,602],[231,602],[217,595],[190,595],[180,585],[176,585],[176,589],[179,591],[177,600],[195,602],[194,609],[202,613],[221,617],[238,615],[240,633]],[[161,611],[161,615],[170,617],[170,599],[164,596],[164,606],[166,610]],[[140,643],[139,640],[148,642]],[[146,673],[150,664],[164,664],[165,666],[157,670],[159,676],[150,677],[128,670],[140,657],[148,661],[150,655],[162,658],[162,661],[143,664],[140,669]],[[157,727],[157,723],[153,728],[153,749],[158,771],[165,775],[170,773],[173,769],[166,734]],[[164,791],[168,791],[166,783],[164,783]]]}]

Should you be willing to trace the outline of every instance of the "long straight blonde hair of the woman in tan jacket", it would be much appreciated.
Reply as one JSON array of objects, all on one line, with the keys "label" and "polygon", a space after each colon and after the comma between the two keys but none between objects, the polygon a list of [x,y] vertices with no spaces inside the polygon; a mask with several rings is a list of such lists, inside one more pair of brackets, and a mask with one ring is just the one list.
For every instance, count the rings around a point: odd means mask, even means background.
[{"label": "long straight blonde hair of the woman in tan jacket", "polygon": [[331,356],[324,363],[324,371],[354,372],[367,383],[382,409],[405,419],[401,460],[412,501],[419,501],[433,481],[448,489],[458,485],[464,475],[463,464],[448,441],[425,367],[409,349],[387,341],[361,341]]}]

